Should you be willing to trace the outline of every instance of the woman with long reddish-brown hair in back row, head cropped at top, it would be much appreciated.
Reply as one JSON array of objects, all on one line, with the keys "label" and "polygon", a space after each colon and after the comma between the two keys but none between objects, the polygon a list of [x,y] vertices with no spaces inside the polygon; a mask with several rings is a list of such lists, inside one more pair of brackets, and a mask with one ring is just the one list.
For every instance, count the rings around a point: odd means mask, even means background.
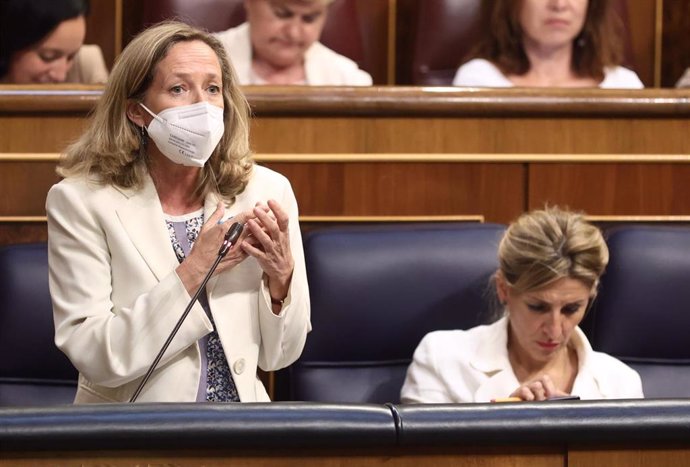
[{"label": "woman with long reddish-brown hair in back row, head cropped at top", "polygon": [[486,37],[455,86],[644,87],[620,66],[611,0],[483,2]]}]

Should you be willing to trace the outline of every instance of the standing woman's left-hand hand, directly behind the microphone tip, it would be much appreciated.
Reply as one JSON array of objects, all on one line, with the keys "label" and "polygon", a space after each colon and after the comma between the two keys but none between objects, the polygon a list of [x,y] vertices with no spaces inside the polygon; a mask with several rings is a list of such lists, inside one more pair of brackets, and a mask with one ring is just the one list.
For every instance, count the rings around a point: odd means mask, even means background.
[{"label": "standing woman's left-hand hand, directly behind the microphone tip", "polygon": [[[239,222],[245,224],[249,219],[256,217],[252,210],[244,211],[232,219],[223,223],[218,223],[225,214],[223,203],[218,203],[218,207],[211,217],[204,223],[199,232],[199,236],[194,242],[194,247],[189,252],[185,260],[177,267],[177,275],[184,284],[189,295],[193,295],[201,285],[201,282],[208,274],[213,263],[218,258],[218,250],[223,244],[225,234],[230,227]],[[218,274],[227,269],[233,268],[247,258],[247,254],[240,247],[242,241],[249,234],[249,229],[244,229],[239,239],[228,250],[225,257],[221,260],[214,274]]]}]

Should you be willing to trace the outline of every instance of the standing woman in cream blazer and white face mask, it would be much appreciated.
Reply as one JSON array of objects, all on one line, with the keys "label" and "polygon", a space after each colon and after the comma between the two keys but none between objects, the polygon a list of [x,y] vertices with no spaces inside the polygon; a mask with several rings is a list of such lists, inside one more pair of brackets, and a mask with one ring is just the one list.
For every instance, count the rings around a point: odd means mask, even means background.
[{"label": "standing woman in cream blazer and white face mask", "polygon": [[120,55],[46,205],[55,342],[79,370],[76,403],[130,399],[235,221],[245,233],[138,400],[267,401],[257,367],[300,355],[297,203],[285,177],[254,165],[248,131],[210,35],[163,23]]}]

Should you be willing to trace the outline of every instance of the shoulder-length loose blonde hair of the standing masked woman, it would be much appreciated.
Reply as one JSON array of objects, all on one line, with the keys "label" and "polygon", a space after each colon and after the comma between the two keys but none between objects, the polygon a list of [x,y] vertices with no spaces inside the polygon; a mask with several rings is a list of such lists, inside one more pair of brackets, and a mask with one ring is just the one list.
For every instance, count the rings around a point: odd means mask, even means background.
[{"label": "shoulder-length loose blonde hair of the standing masked woman", "polygon": [[140,187],[148,173],[143,129],[127,117],[131,100],[143,100],[158,63],[179,42],[201,41],[215,52],[223,80],[225,133],[201,171],[196,195],[217,192],[228,202],[247,185],[253,167],[249,106],[222,44],[183,23],[146,29],[118,57],[86,132],[67,148],[58,166],[63,177],[86,176],[102,184]]}]

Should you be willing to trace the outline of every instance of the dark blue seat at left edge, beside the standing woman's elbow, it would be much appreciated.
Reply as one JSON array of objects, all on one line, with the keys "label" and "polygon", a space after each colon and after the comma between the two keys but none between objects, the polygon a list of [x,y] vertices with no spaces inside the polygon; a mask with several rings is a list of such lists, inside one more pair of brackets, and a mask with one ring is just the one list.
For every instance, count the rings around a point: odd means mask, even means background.
[{"label": "dark blue seat at left edge, beside the standing woman's elbow", "polygon": [[77,372],[53,336],[46,245],[0,249],[0,406],[72,403]]}]

